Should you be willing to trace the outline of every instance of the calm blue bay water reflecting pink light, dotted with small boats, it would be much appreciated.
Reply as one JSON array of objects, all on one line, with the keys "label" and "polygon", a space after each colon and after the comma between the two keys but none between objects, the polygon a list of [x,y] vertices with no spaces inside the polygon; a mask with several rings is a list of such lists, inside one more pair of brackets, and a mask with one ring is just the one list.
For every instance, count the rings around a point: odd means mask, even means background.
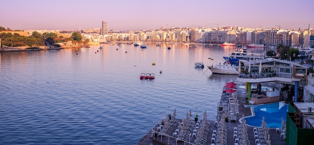
[{"label": "calm blue bay water reflecting pink light, dotted with small boats", "polygon": [[191,109],[215,119],[223,86],[236,77],[194,68],[223,62],[234,47],[101,46],[2,52],[0,144],[136,144],[175,108],[177,118]]}]

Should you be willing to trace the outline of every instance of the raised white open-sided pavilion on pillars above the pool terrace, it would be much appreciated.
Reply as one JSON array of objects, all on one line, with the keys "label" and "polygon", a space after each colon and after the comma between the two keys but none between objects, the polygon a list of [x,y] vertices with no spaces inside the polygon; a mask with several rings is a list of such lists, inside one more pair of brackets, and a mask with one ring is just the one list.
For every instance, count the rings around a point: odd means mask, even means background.
[{"label": "raised white open-sided pavilion on pillars above the pool terrace", "polygon": [[[237,80],[251,83],[261,82],[277,82],[294,87],[294,95],[287,98],[294,102],[304,101],[302,97],[304,90],[304,80],[306,79],[307,66],[298,63],[267,58],[262,60],[251,60],[244,62],[241,72],[239,72]],[[248,88],[248,102],[251,98],[251,88]],[[251,102],[255,103],[255,102]]]}]

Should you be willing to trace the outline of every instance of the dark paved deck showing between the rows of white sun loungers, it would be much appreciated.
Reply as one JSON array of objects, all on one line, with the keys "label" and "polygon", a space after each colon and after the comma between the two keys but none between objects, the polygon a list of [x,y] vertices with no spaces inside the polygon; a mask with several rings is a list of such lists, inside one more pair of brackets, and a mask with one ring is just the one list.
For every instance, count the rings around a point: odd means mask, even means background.
[{"label": "dark paved deck showing between the rows of white sun loungers", "polygon": [[[245,85],[244,83],[237,83],[238,86],[240,85]],[[247,100],[246,100],[246,90],[243,88],[237,88],[237,93],[238,93],[238,111],[239,114],[237,115],[237,120],[236,121],[228,121],[227,123],[227,145],[234,145],[235,144],[235,139],[234,139],[234,127],[237,127],[239,124],[239,119],[241,119],[242,114],[244,116],[250,116],[251,115],[251,109],[248,107],[245,107],[244,105],[247,105]],[[229,93],[222,93],[221,96],[221,102],[220,102],[220,107],[223,107],[221,111],[218,112],[217,118],[221,118],[221,115],[225,112],[225,110],[228,109],[228,102],[229,102]],[[182,120],[179,120],[182,122]],[[214,139],[212,139],[212,134],[213,130],[217,130],[217,122],[215,123],[215,120],[209,121],[210,125],[208,128],[208,133],[207,133],[207,142],[205,143],[206,145],[212,145],[214,143]],[[203,123],[203,120],[201,121],[200,124]],[[261,121],[262,123],[262,121]],[[169,136],[157,136],[157,137],[151,137],[151,131],[149,131],[141,140],[138,141],[138,145],[148,145],[148,144],[189,144],[189,142],[194,143],[194,140],[196,139],[195,136],[192,136],[191,131],[191,136],[188,137],[189,140],[187,142],[184,141],[177,141],[176,142],[176,137],[174,137],[174,133],[176,132],[176,129],[178,129],[179,125],[174,127],[174,129],[169,133]],[[196,125],[194,126],[193,129],[195,129]],[[178,134],[178,133],[177,133]],[[250,144],[255,144],[255,139],[254,139],[254,131],[253,127],[247,126],[247,134],[248,134],[248,139],[250,140]],[[275,128],[271,128],[269,131],[270,134],[270,140],[271,144],[285,144],[285,140],[283,140],[280,137],[280,133],[276,132]],[[173,136],[174,135],[174,136]],[[216,139],[216,138],[215,138]],[[153,143],[152,143],[153,142]]]}]

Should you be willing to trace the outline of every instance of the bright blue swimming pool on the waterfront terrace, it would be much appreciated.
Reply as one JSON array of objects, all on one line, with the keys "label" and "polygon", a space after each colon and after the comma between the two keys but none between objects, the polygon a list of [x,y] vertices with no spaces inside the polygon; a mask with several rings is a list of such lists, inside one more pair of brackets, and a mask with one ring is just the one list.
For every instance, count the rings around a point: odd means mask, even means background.
[{"label": "bright blue swimming pool on the waterfront terrace", "polygon": [[284,102],[248,106],[252,110],[252,116],[245,117],[246,124],[249,126],[261,127],[263,116],[265,117],[267,127],[270,128],[282,127],[281,117],[286,122],[288,105]]}]

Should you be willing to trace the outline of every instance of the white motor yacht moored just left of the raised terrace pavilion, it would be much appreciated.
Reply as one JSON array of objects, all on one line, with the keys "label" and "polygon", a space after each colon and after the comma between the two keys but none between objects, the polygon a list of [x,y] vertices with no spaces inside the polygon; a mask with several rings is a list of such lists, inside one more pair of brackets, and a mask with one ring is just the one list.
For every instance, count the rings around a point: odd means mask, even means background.
[{"label": "white motor yacht moored just left of the raised terrace pavilion", "polygon": [[207,66],[213,74],[238,74],[238,70],[234,65],[230,63],[227,64],[218,64],[216,66]]}]

